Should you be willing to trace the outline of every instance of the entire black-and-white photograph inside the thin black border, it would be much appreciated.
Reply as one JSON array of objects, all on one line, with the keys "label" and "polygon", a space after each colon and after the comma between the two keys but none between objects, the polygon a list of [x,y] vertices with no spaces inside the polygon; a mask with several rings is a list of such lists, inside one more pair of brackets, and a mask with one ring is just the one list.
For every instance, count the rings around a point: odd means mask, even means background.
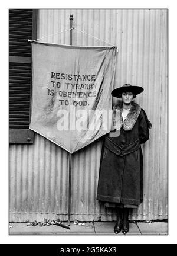
[{"label": "entire black-and-white photograph inside the thin black border", "polygon": [[168,9],[9,8],[17,235],[169,235]]}]

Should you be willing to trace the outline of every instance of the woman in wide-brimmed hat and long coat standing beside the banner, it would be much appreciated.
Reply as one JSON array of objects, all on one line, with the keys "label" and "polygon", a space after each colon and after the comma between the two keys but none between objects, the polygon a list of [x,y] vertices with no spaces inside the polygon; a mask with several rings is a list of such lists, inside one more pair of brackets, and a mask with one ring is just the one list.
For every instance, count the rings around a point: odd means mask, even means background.
[{"label": "woman in wide-brimmed hat and long coat standing beside the banner", "polygon": [[129,209],[143,201],[143,155],[140,147],[149,139],[151,126],[146,113],[132,100],[142,87],[125,84],[112,95],[122,98],[113,107],[113,126],[103,142],[97,200],[116,207],[114,232],[129,232]]}]

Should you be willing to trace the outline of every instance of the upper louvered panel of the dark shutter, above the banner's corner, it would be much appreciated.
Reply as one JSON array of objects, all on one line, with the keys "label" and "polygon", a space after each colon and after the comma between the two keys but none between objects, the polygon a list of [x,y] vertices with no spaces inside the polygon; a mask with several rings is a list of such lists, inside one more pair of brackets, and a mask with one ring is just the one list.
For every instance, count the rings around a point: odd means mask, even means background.
[{"label": "upper louvered panel of the dark shutter, above the banner's corner", "polygon": [[9,55],[31,57],[32,9],[9,10]]}]

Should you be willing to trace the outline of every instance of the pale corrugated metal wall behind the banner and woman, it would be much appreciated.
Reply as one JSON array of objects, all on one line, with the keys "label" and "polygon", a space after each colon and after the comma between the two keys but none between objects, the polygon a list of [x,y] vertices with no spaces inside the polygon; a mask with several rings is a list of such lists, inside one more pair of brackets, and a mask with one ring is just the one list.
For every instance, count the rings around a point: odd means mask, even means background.
[{"label": "pale corrugated metal wall behind the banner and woman", "polygon": [[[141,85],[136,98],[152,122],[143,145],[144,201],[131,219],[167,218],[167,11],[69,10],[38,11],[38,38],[74,27],[116,45],[114,87]],[[69,32],[41,40],[69,44]],[[103,42],[73,31],[73,45],[103,46]],[[73,155],[71,220],[115,220],[96,200],[101,139]],[[10,146],[10,220],[67,220],[68,153],[35,134],[33,145]]]}]

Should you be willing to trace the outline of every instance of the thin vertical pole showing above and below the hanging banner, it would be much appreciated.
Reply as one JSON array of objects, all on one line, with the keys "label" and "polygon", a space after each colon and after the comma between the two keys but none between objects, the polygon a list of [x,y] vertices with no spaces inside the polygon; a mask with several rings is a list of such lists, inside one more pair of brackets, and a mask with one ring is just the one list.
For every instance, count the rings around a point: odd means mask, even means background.
[{"label": "thin vertical pole showing above and below the hanging banner", "polygon": [[[70,14],[70,45],[73,43],[73,14]],[[69,182],[68,182],[68,226],[71,220],[71,153],[69,156]]]}]

